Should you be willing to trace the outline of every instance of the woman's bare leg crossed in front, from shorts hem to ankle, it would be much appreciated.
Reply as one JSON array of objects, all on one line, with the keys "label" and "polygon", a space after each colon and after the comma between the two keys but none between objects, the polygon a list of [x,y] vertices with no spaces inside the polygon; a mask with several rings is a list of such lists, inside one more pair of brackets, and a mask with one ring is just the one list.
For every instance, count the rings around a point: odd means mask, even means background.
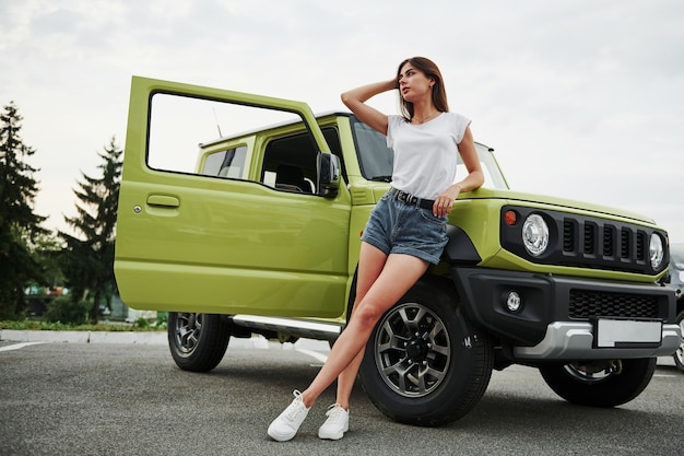
[{"label": "woman's bare leg crossed in front, from shorts hem to ankle", "polygon": [[[309,387],[302,393],[302,400],[307,408],[311,407],[318,396],[359,356],[380,316],[413,287],[427,270],[427,261],[410,255],[391,254],[387,258],[382,271],[330,350],[328,361]],[[355,369],[357,370],[358,365]],[[345,382],[347,381],[349,378],[345,378]]]}]

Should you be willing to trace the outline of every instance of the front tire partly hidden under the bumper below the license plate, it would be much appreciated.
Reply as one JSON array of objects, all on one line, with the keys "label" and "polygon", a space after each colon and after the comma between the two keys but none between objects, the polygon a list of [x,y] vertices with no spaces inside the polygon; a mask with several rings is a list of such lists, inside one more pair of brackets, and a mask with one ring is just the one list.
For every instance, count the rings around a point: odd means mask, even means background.
[{"label": "front tire partly hidden under the bumper below the license plate", "polygon": [[616,407],[630,401],[648,386],[656,358],[588,361],[539,367],[544,382],[571,404]]}]

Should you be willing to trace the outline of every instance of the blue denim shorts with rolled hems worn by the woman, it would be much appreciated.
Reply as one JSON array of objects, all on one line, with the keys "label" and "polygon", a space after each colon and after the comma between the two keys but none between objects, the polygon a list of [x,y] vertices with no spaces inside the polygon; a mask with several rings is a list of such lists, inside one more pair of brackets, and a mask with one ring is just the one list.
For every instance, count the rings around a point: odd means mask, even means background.
[{"label": "blue denim shorts with rolled hems worn by the woman", "polygon": [[411,255],[436,265],[447,245],[447,218],[387,192],[370,212],[361,239],[385,255]]}]

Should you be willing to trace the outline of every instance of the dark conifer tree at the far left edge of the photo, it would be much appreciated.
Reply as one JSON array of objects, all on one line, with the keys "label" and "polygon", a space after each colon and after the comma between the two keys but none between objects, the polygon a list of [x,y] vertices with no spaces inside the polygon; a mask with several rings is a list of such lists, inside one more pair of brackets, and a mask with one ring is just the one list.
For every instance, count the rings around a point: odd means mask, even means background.
[{"label": "dark conifer tree at the far left edge of the photo", "polygon": [[43,281],[31,244],[48,232],[40,226],[47,218],[34,213],[38,169],[25,162],[35,151],[19,135],[22,120],[13,102],[0,114],[0,319],[22,316],[24,289]]}]

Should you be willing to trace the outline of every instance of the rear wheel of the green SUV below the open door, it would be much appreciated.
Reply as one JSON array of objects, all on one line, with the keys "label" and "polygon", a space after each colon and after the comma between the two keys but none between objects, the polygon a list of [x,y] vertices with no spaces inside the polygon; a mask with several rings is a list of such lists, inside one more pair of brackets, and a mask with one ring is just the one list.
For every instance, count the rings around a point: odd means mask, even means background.
[{"label": "rear wheel of the green SUV below the open door", "polygon": [[220,315],[168,313],[168,347],[184,371],[216,367],[231,340],[231,325]]}]

